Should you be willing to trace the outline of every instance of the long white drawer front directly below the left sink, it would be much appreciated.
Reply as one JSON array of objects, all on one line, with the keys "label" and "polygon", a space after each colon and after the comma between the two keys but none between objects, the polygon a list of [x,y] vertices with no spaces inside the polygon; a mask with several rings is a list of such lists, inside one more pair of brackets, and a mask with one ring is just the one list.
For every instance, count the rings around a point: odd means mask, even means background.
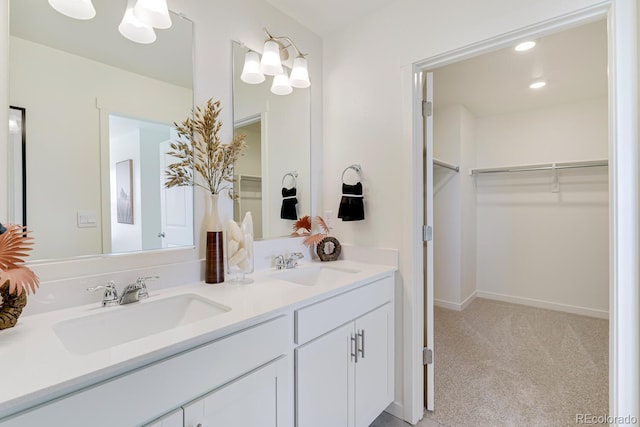
[{"label": "long white drawer front directly below the left sink", "polygon": [[[285,354],[282,316],[0,420],[2,427],[112,427],[148,423]],[[105,407],[109,408],[105,410]]]}]

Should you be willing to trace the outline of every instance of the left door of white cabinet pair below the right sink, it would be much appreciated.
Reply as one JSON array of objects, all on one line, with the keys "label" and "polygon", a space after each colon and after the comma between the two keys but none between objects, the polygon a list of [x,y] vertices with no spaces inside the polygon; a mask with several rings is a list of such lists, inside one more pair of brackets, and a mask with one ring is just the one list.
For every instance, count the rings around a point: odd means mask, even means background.
[{"label": "left door of white cabinet pair below the right sink", "polygon": [[353,426],[353,322],[298,347],[296,426]]}]

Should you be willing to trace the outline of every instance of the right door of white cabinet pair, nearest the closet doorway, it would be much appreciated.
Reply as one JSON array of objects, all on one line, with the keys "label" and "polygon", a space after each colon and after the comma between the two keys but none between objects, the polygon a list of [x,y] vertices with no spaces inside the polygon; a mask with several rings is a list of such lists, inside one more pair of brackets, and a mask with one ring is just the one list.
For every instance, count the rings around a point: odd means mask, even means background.
[{"label": "right door of white cabinet pair, nearest the closet doorway", "polygon": [[356,319],[355,425],[367,427],[393,400],[391,304]]}]

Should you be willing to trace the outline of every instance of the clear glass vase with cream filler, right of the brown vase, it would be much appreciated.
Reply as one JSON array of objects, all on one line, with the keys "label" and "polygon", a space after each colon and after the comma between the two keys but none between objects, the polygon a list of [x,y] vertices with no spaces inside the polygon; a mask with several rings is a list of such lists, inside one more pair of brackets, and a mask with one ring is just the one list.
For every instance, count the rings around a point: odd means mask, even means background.
[{"label": "clear glass vase with cream filler, right of the brown vase", "polygon": [[246,277],[253,273],[253,219],[251,212],[247,212],[238,225],[229,220],[227,225],[227,266],[231,281],[234,283],[251,283]]}]

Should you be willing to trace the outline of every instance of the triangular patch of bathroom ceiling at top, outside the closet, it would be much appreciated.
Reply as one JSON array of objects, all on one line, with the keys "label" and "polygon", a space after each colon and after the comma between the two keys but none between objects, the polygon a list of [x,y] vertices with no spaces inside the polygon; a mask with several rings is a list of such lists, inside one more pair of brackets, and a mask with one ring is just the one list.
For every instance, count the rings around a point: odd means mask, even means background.
[{"label": "triangular patch of bathroom ceiling at top, outside the closet", "polygon": [[267,0],[319,36],[369,15],[394,0]]}]

